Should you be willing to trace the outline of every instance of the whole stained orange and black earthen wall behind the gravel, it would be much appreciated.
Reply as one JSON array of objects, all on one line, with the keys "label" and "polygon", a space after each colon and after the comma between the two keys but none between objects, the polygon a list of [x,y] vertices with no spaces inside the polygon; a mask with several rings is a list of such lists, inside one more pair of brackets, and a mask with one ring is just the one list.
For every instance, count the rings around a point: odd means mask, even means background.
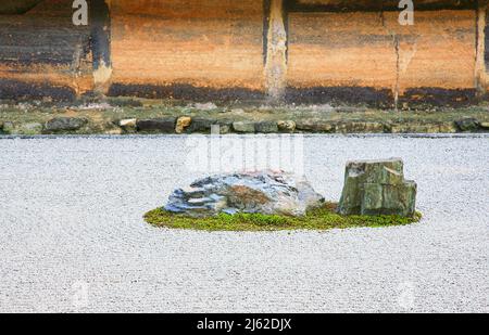
[{"label": "whole stained orange and black earthen wall behind the gravel", "polygon": [[486,1],[414,1],[402,26],[397,0],[92,0],[87,27],[72,2],[0,5],[0,98],[394,107],[487,92]]}]

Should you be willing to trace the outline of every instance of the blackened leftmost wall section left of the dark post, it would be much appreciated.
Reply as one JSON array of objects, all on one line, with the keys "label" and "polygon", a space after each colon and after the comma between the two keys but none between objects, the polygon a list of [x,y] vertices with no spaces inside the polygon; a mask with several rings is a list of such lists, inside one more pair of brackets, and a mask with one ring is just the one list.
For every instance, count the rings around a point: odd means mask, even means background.
[{"label": "blackened leftmost wall section left of the dark post", "polygon": [[92,89],[89,28],[72,24],[66,1],[0,15],[0,98],[74,99]]}]

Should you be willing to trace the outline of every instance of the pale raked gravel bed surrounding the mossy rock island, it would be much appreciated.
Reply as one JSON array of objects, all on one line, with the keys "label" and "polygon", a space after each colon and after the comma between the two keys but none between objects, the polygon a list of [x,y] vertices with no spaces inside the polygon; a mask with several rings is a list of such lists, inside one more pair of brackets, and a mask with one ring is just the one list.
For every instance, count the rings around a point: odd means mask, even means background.
[{"label": "pale raked gravel bed surrounding the mossy rock island", "polygon": [[348,159],[402,157],[418,182],[421,223],[327,232],[149,227],[205,175],[186,143],[1,139],[0,312],[489,311],[489,137],[306,137],[328,199]]}]

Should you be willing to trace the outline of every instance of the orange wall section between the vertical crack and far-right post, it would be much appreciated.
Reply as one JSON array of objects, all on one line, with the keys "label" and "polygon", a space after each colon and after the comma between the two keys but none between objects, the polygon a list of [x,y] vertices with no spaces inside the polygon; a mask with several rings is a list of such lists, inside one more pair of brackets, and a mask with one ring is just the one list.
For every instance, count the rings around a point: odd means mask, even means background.
[{"label": "orange wall section between the vertical crack and far-right post", "polygon": [[413,26],[400,26],[396,13],[385,15],[399,36],[401,93],[413,87],[474,88],[475,11],[418,12]]}]

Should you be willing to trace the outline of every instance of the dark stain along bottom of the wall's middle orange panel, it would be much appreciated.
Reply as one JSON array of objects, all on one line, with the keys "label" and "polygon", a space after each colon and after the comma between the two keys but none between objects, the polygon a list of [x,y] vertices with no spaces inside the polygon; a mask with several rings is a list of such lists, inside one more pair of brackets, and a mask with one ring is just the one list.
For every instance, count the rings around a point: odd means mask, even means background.
[{"label": "dark stain along bottom of the wall's middle orange panel", "polygon": [[212,89],[191,85],[123,85],[113,83],[108,95],[138,96],[147,99],[177,99],[196,102],[230,102],[230,101],[262,101],[265,94],[258,90],[244,88]]}]

